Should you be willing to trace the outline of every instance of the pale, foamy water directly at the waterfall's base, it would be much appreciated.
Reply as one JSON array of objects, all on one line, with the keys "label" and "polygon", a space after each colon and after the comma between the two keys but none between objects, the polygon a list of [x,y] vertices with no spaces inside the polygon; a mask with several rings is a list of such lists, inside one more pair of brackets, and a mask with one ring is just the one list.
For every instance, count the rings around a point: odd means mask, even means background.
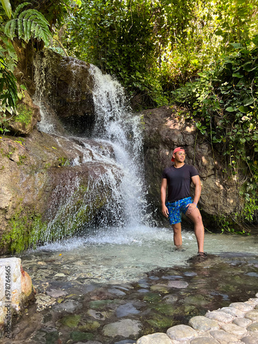
[{"label": "pale, foamy water directly at the waterfall's base", "polygon": [[[35,261],[51,258],[49,268],[53,271],[61,265],[72,268],[70,278],[80,275],[94,281],[125,283],[136,281],[154,268],[185,266],[187,259],[197,253],[197,244],[193,231],[183,231],[182,239],[186,250],[178,252],[173,250],[173,234],[169,228],[99,228],[93,235],[45,245],[21,258],[27,270]],[[257,241],[252,236],[206,233],[204,248],[209,254],[258,254]]]}]

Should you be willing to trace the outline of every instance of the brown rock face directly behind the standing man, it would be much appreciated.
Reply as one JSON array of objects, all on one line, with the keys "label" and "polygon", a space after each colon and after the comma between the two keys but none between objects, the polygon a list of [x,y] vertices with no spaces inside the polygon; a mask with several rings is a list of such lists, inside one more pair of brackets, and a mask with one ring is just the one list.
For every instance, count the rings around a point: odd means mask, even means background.
[{"label": "brown rock face directly behind the standing man", "polygon": [[[213,150],[205,137],[198,135],[193,119],[176,107],[142,111],[144,125],[144,161],[149,187],[149,202],[160,215],[162,171],[172,164],[175,147],[184,147],[186,163],[200,173],[202,195],[200,209],[204,225],[214,228],[214,217],[227,217],[241,210],[237,180],[228,178],[223,156]],[[162,217],[160,217],[162,219]]]}]

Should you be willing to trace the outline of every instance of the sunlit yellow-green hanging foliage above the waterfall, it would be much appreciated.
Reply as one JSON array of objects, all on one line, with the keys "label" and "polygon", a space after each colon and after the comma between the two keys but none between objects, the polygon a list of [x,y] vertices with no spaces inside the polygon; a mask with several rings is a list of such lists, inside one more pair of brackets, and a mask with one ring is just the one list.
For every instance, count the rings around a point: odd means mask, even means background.
[{"label": "sunlit yellow-green hanging foliage above the waterfall", "polygon": [[114,74],[145,106],[163,105],[225,52],[257,32],[257,0],[94,0],[73,6],[58,42]]}]

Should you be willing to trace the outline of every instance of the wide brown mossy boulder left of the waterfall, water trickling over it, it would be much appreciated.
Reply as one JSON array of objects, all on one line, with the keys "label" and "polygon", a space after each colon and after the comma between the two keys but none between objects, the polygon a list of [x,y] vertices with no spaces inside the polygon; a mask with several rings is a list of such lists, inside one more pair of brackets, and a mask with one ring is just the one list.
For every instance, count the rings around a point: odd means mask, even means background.
[{"label": "wide brown mossy boulder left of the waterfall, water trickling over it", "polygon": [[37,130],[25,138],[1,136],[1,253],[76,235],[115,202],[107,176],[119,184],[121,171],[94,158],[90,147],[113,154],[94,140]]}]

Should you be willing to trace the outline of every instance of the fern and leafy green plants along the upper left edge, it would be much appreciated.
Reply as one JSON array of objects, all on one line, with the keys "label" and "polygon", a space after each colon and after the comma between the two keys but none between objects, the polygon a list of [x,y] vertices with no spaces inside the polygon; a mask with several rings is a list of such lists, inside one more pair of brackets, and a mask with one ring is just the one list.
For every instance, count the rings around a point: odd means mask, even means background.
[{"label": "fern and leafy green plants along the upper left edge", "polygon": [[10,1],[1,0],[0,7],[0,131],[5,132],[6,122],[16,111],[19,98],[17,80],[13,74],[17,54],[12,45],[14,38],[28,43],[30,39],[50,41],[49,23],[41,12],[28,8],[30,3],[21,3],[14,12]]}]

